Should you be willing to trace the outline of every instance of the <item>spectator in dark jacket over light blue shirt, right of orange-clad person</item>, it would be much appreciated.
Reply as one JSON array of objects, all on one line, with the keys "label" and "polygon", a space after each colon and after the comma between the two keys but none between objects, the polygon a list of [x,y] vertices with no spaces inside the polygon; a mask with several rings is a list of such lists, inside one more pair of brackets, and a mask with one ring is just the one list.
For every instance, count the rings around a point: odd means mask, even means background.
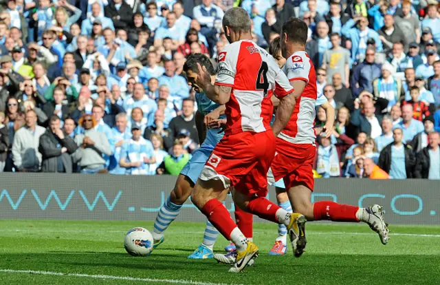
[{"label": "spectator in dark jacket over light blue shirt, right of orange-clad person", "polygon": [[[419,122],[420,123],[420,122]],[[397,127],[393,130],[394,142],[387,145],[380,153],[379,167],[390,175],[391,179],[412,178],[415,157],[412,148],[402,142],[404,134]]]}]

